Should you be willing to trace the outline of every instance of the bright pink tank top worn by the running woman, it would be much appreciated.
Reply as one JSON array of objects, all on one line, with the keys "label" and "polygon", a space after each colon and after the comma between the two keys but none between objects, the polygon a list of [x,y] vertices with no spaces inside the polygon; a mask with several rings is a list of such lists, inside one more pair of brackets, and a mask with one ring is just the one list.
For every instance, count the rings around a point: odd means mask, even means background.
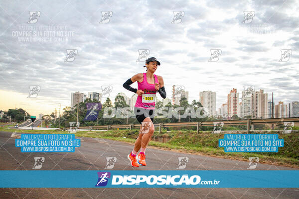
[{"label": "bright pink tank top worn by the running woman", "polygon": [[[153,75],[153,77],[154,77],[154,83],[159,83],[157,76]],[[147,96],[147,94],[151,94],[151,95],[148,95],[149,97],[147,98],[147,99],[150,99],[152,97],[152,94],[155,95],[157,93],[157,91],[154,88],[154,84],[148,83],[146,73],[144,73],[144,80],[141,83],[138,82],[138,90],[142,90],[145,93],[143,94],[143,96],[137,96],[135,107],[140,107],[140,108],[145,108],[145,109],[154,109],[155,102],[149,102],[149,103],[143,102],[143,97],[145,98]],[[144,100],[146,100],[146,99],[144,99]],[[153,100],[155,100],[155,97]]]}]

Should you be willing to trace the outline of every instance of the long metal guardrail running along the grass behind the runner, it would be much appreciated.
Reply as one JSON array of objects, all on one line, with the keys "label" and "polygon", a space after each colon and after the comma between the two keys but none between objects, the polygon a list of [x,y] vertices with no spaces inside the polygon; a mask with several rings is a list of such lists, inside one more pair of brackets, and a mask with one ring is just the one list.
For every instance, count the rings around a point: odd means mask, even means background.
[{"label": "long metal guardrail running along the grass behind the runner", "polygon": [[[284,122],[299,123],[298,117],[275,118],[275,119],[242,119],[242,120],[217,120],[217,121],[199,121],[199,122],[180,122],[180,123],[159,123],[154,124],[154,127],[159,127],[161,132],[162,127],[184,127],[196,126],[197,133],[201,126],[214,126],[214,122],[223,122],[223,125],[247,125],[247,133],[253,129],[254,124],[281,124]],[[250,127],[252,126],[252,129]],[[115,128],[140,128],[141,124],[121,124],[121,125],[102,125],[102,126],[80,126],[79,129],[115,129]],[[64,130],[68,128],[59,128],[57,130]]]}]

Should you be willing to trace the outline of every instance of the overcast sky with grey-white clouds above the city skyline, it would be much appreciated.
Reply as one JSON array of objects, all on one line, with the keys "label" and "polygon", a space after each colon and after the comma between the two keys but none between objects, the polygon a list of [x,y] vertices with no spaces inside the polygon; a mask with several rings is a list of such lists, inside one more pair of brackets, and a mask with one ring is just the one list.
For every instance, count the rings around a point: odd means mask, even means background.
[{"label": "overcast sky with grey-white clouds above the city skyline", "polygon": [[[219,108],[230,90],[241,93],[253,85],[269,96],[274,92],[276,103],[299,100],[298,10],[295,0],[4,0],[0,109],[16,106],[31,115],[46,114],[59,108],[57,103],[70,106],[72,92],[101,92],[105,85],[113,86],[113,99],[120,92],[131,97],[122,85],[146,71],[144,62],[137,62],[139,49],[149,49],[149,57],[160,61],[155,74],[163,77],[167,97],[172,85],[184,86],[189,102],[199,100],[200,91],[214,91]],[[39,11],[35,23],[28,23],[30,11]],[[100,23],[102,11],[112,11],[109,22]],[[181,22],[171,23],[173,11],[183,11]],[[253,11],[251,22],[242,23],[244,11]],[[43,30],[55,26],[64,27],[59,30],[69,35],[60,39],[67,40],[21,40],[21,29],[30,27],[37,28],[35,34],[41,28],[42,37],[57,39]],[[67,49],[77,50],[72,62],[65,61]],[[208,61],[211,49],[221,50],[218,61]],[[282,49],[292,50],[288,61],[279,61]],[[40,86],[38,97],[27,98],[29,86],[35,85]]]}]

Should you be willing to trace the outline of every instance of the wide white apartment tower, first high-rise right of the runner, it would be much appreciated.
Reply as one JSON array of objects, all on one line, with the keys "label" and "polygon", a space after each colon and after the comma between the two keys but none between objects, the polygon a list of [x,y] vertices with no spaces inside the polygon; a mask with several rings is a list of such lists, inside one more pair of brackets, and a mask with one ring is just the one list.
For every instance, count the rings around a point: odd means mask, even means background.
[{"label": "wide white apartment tower, first high-rise right of the runner", "polygon": [[199,102],[208,110],[209,116],[216,116],[216,92],[199,92]]}]

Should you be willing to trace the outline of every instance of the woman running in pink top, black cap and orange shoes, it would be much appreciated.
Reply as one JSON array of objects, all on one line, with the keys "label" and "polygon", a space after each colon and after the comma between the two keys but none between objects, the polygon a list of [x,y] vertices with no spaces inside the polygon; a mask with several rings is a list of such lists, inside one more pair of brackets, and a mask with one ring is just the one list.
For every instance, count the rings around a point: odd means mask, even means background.
[{"label": "woman running in pink top, black cap and orange shoes", "polygon": [[[147,166],[145,153],[154,132],[153,117],[156,92],[163,99],[166,98],[163,78],[153,74],[157,70],[157,66],[160,66],[160,62],[156,58],[151,57],[147,59],[146,66],[144,66],[147,67],[147,72],[133,76],[123,85],[125,89],[138,95],[134,113],[137,120],[141,123],[141,127],[139,136],[135,141],[135,147],[128,155],[128,159],[133,167],[139,167],[139,165]],[[130,86],[136,81],[138,82],[138,90]],[[141,151],[137,155],[140,149]]]}]

